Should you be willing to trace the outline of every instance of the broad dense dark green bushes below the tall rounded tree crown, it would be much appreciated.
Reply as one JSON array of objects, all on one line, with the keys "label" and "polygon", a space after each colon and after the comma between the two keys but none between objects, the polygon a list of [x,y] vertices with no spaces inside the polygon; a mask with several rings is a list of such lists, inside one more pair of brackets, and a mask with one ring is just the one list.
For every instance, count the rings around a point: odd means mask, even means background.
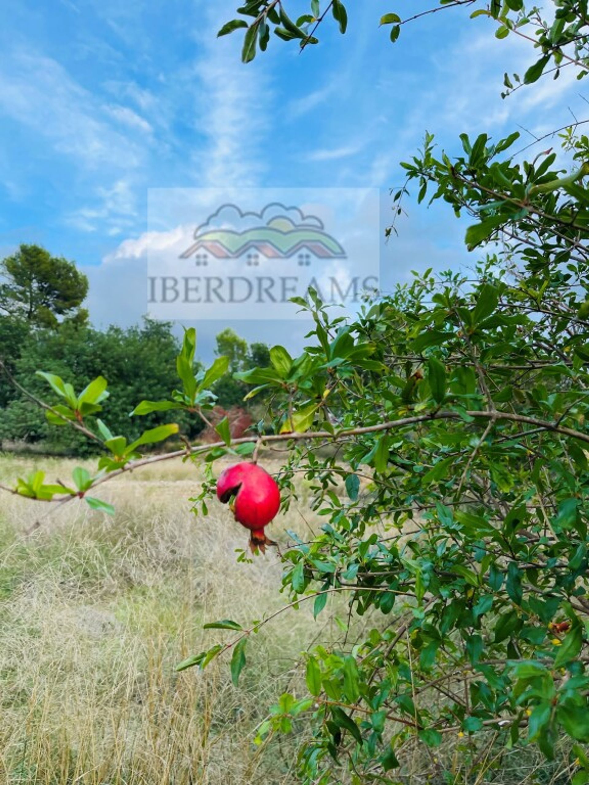
[{"label": "broad dense dark green bushes below the tall rounded tree crown", "polygon": [[[177,351],[177,339],[167,322],[145,319],[141,327],[109,327],[104,332],[65,323],[59,330],[35,330],[25,339],[20,358],[13,363],[14,375],[20,385],[42,400],[48,398],[47,384],[35,371],[57,374],[65,382],[75,382],[79,389],[103,375],[112,398],[102,403],[100,417],[112,433],[125,433],[134,439],[144,429],[166,421],[165,412],[153,412],[141,419],[129,418],[129,414],[137,400],[148,397],[148,392],[166,397],[177,386]],[[203,429],[203,421],[196,414],[181,412],[177,422],[189,438]],[[2,412],[0,439],[42,443],[47,451],[72,455],[94,451],[94,445],[75,430],[51,428],[44,412],[20,392]]]}]

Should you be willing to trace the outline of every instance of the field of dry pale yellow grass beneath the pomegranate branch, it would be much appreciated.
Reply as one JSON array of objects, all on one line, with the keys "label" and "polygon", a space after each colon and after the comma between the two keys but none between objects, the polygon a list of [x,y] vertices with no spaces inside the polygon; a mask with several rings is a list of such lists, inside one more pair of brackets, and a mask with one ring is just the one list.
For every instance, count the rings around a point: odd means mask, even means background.
[{"label": "field of dry pale yellow grass beneath the pomegranate branch", "polygon": [[[0,481],[38,466],[65,480],[77,463],[4,456]],[[303,604],[265,626],[239,688],[226,657],[175,672],[232,634],[203,623],[247,624],[286,602],[276,552],[239,563],[247,532],[216,501],[196,517],[198,490],[199,469],[175,461],[104,484],[114,518],[79,500],[56,509],[2,495],[2,785],[294,782],[297,735],[264,749],[253,739],[276,697],[296,690],[294,666],[313,637],[329,637],[333,614],[315,623]],[[286,528],[307,525],[294,510],[273,535],[286,542]]]}]

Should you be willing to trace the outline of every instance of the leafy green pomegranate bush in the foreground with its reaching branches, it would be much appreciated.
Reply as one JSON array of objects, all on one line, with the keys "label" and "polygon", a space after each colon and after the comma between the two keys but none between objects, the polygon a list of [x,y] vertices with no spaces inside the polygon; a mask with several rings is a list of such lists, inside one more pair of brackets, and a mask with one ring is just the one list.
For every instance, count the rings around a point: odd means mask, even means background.
[{"label": "leafy green pomegranate bush in the foreground with its reaching branches", "polygon": [[[258,44],[265,49],[270,27],[299,46],[313,42],[327,12],[346,29],[341,2],[313,0],[310,18],[289,16],[285,5],[251,0],[238,9],[247,22],[244,60]],[[587,2],[560,0],[554,10],[545,21],[537,9],[526,14],[521,0],[491,0],[474,16],[492,20],[498,38],[535,28],[541,55],[523,80],[532,85],[563,60],[585,74]],[[396,39],[403,21],[387,13],[382,24]],[[240,27],[234,21],[222,32]],[[511,89],[508,75],[505,84]],[[498,782],[505,750],[536,747],[553,761],[568,755],[565,744],[573,756],[560,780],[589,781],[589,140],[577,128],[562,133],[569,173],[552,152],[515,162],[517,138],[462,134],[451,158],[427,133],[423,150],[403,164],[407,182],[394,201],[415,184],[419,202],[429,194],[471,216],[466,245],[483,258],[468,276],[415,273],[349,322],[332,318],[309,290],[308,301],[294,298],[314,325],[298,357],[273,346],[267,356],[256,349],[251,363],[254,352],[225,331],[218,348],[227,360],[195,375],[188,330],[175,365],[180,385],[175,378],[172,392],[154,392],[146,379],[141,395],[149,400],[135,409],[164,420],[171,410],[198,414],[214,405],[207,380],[229,398],[221,377],[230,367],[237,385],[256,385],[250,396],[266,396],[266,440],[291,448],[280,472],[283,508],[302,478],[323,525],[304,541],[284,537],[285,611],[309,601],[318,636],[298,663],[308,694],[280,696],[256,741],[305,722],[297,760],[305,785],[413,781],[419,748],[430,767],[424,782]],[[499,251],[489,245],[498,238]],[[16,367],[35,385],[29,360],[23,353]],[[99,379],[86,400],[77,378],[75,391],[46,381],[68,401],[69,418],[83,405],[106,414],[112,400],[101,398]],[[130,445],[101,428],[111,455],[99,466],[115,470],[175,428]],[[313,440],[334,449],[314,451]],[[214,492],[210,463],[255,448],[225,440],[208,449],[207,480],[194,499],[204,514]],[[17,491],[48,499],[93,487],[79,469],[71,489],[43,478],[21,478]],[[340,640],[328,645],[320,625],[331,594],[346,597],[348,608]],[[253,633],[276,611],[260,615],[250,627],[212,623],[229,640],[179,669],[232,652],[237,684],[255,663]],[[445,770],[444,747],[452,754]]]}]

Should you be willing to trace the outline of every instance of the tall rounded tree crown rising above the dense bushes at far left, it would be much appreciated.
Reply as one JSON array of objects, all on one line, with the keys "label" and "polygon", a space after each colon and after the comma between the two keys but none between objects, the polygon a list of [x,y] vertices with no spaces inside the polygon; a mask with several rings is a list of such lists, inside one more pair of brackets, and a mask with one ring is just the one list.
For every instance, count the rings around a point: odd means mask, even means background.
[{"label": "tall rounded tree crown rising above the dense bushes at far left", "polygon": [[61,320],[86,323],[79,306],[88,294],[88,279],[74,262],[55,257],[36,245],[21,245],[0,262],[0,312],[38,327],[57,327]]}]

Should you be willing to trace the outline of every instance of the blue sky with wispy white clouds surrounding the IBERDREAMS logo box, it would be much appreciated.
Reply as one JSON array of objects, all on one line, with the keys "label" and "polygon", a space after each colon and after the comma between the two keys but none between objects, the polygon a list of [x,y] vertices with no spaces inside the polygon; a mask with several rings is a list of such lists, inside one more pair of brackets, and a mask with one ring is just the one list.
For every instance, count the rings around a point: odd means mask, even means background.
[{"label": "blue sky with wispy white clouds surrounding the IBERDREAMS logo box", "polygon": [[[382,13],[425,3],[349,2],[349,32],[324,24],[302,55],[278,39],[240,64],[240,33],[217,39],[232,0],[4,0],[0,7],[0,254],[40,243],[90,277],[97,326],[145,312],[149,188],[388,188],[424,131],[458,152],[462,131],[540,135],[584,115],[584,82],[566,71],[513,98],[503,71],[533,53],[494,38],[462,9],[427,16],[391,45]],[[291,16],[307,10],[291,0]],[[423,8],[422,8],[423,5]],[[550,5],[550,4],[548,4]],[[394,6],[394,7],[393,7]],[[522,130],[522,145],[532,140]],[[546,144],[549,146],[550,143]],[[401,237],[382,243],[385,288],[411,269],[467,263],[464,226],[444,208],[410,205]],[[197,324],[210,356],[226,324]],[[249,340],[282,339],[292,324],[231,325]]]}]

